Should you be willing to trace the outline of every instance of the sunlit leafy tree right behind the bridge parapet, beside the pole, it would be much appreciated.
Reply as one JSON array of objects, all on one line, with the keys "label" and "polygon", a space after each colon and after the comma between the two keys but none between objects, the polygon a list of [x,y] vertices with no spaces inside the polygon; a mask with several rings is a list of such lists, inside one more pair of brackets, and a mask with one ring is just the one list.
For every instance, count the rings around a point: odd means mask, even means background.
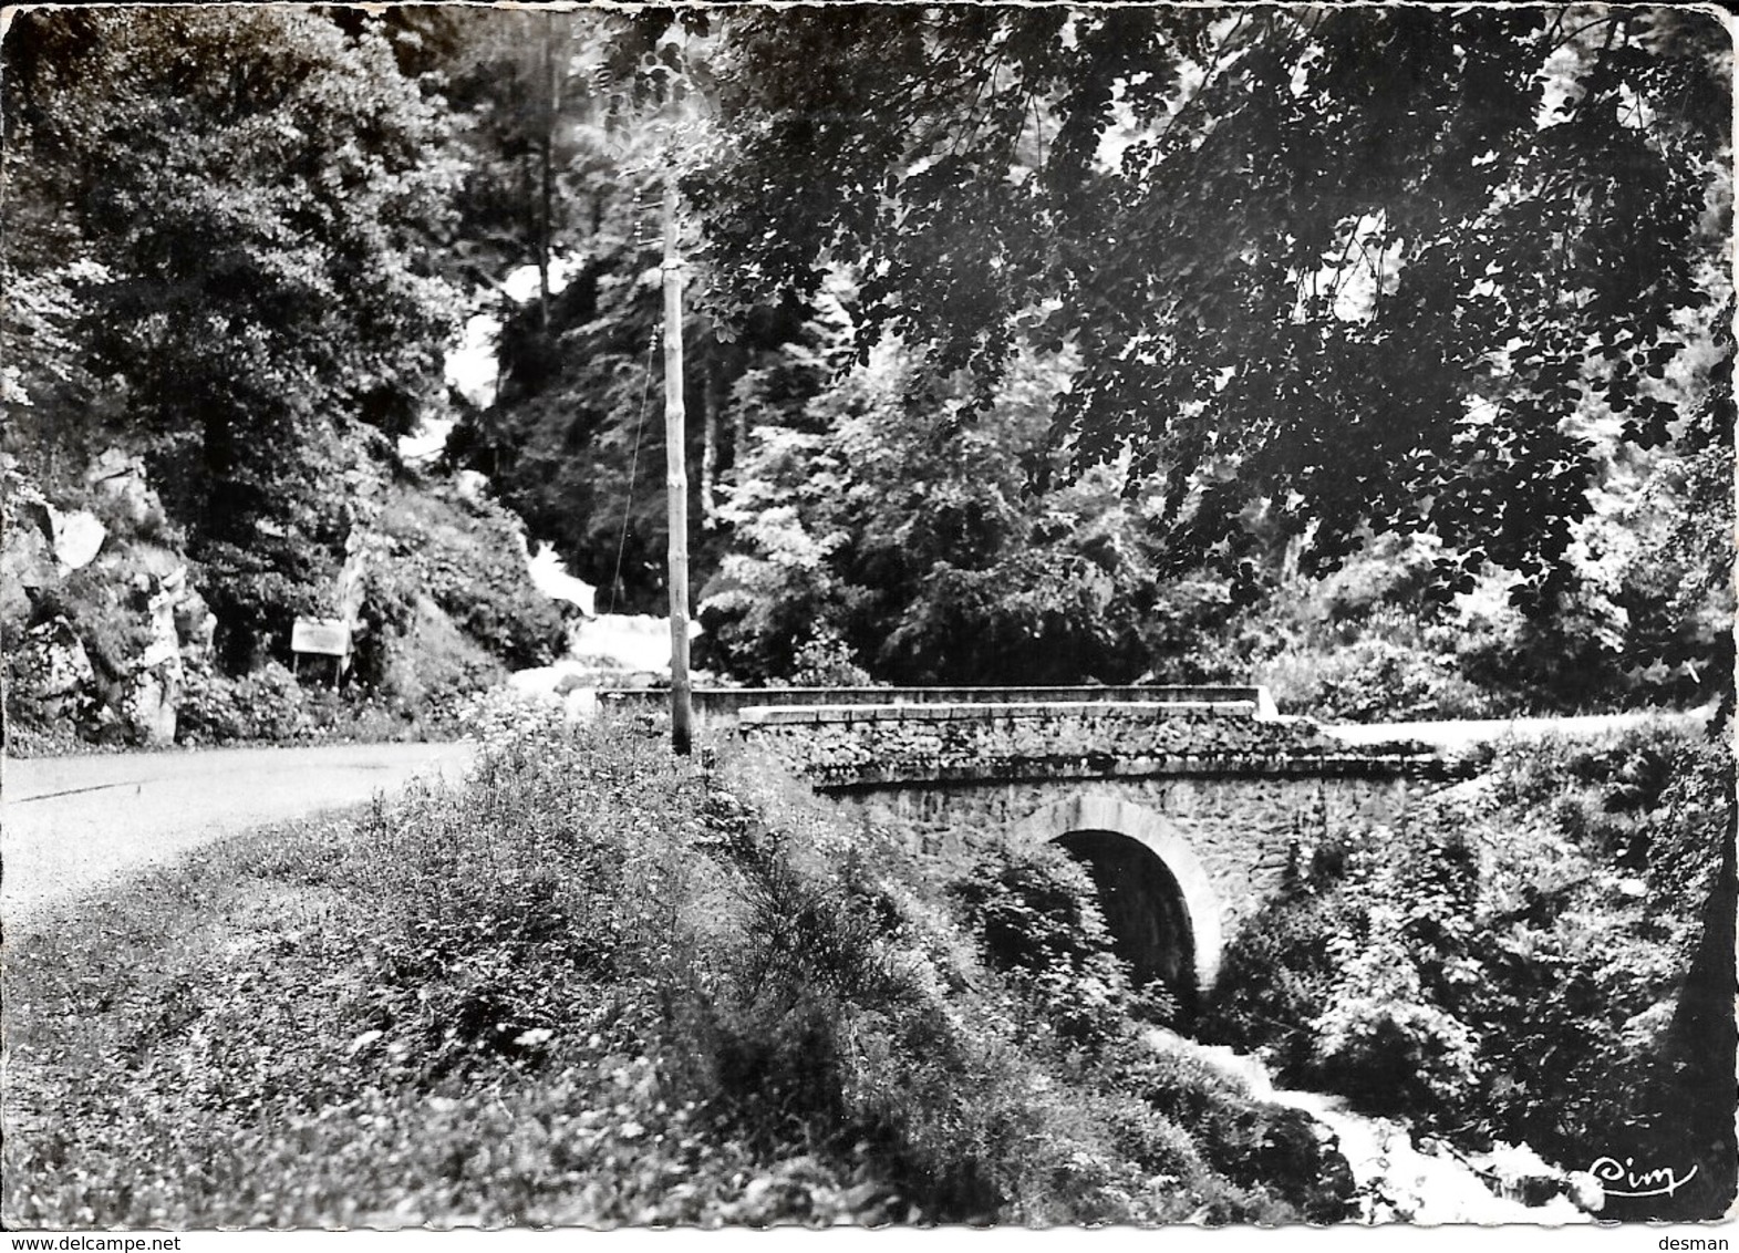
[{"label": "sunlit leafy tree right behind the bridge parapet, beside the pole", "polygon": [[803,341],[824,386],[760,405],[725,494],[732,544],[703,600],[713,664],[786,678],[805,645],[838,638],[901,683],[1115,683],[1148,669],[1160,624],[1139,506],[1104,469],[1024,490],[1076,363],[1021,351],[991,405],[960,415],[969,384],[925,384],[897,344],[852,365],[840,295],[849,285],[823,294]]}]

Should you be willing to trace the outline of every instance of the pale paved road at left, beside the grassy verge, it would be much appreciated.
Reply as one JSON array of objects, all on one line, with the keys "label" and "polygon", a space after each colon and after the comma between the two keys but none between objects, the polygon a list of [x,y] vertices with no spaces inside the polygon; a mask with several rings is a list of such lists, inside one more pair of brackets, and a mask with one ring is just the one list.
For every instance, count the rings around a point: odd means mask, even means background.
[{"label": "pale paved road at left, beside the grassy verge", "polygon": [[5,761],[0,914],[40,905],[226,834],[369,801],[412,777],[457,780],[471,744],[127,752]]}]

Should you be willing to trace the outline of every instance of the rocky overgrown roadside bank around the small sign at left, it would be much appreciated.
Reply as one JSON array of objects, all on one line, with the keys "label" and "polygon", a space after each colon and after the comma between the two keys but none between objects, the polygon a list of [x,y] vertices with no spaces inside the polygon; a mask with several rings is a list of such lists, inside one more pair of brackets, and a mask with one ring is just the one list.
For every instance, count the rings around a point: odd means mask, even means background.
[{"label": "rocky overgrown roadside bank around the small sign at left", "polygon": [[[565,646],[518,520],[452,481],[363,461],[348,485],[343,561],[318,549],[259,561],[264,600],[247,603],[273,612],[224,631],[207,600],[223,575],[193,556],[143,459],[111,447],[68,471],[56,452],[5,462],[0,636],[14,754],[445,733],[459,700]],[[355,655],[334,685],[330,659],[296,664],[290,626],[346,608]]]}]

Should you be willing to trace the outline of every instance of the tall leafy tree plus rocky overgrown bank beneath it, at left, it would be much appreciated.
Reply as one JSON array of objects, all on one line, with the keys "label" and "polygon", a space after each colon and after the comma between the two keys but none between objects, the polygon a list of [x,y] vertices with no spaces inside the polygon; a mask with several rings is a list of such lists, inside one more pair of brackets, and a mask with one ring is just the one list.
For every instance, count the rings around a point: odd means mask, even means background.
[{"label": "tall leafy tree plus rocky overgrown bank beneath it, at left", "polygon": [[[264,7],[10,24],[0,629],[31,746],[416,733],[560,652],[518,523],[398,466],[447,412],[476,233],[456,103],[410,33]],[[56,509],[101,523],[94,563],[43,551]],[[299,683],[290,624],[355,613],[358,560],[358,666],[341,693],[323,660]],[[75,702],[16,664],[31,633],[59,641],[35,671],[89,659]]]}]

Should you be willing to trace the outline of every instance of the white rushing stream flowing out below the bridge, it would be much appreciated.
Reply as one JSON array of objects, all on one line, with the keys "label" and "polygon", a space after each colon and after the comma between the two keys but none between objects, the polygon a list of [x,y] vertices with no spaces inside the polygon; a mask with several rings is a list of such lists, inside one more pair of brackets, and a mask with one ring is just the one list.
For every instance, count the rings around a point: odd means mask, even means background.
[{"label": "white rushing stream flowing out below the bridge", "polygon": [[[1586,1190],[1596,1185],[1546,1164],[1527,1145],[1496,1145],[1489,1154],[1459,1154],[1435,1140],[1416,1142],[1412,1130],[1398,1119],[1356,1114],[1343,1097],[1275,1088],[1268,1067],[1247,1053],[1223,1044],[1198,1044],[1160,1029],[1151,1031],[1148,1039],[1156,1046],[1188,1051],[1256,1100],[1297,1109],[1327,1126],[1339,1140],[1358,1185],[1358,1215],[1351,1222],[1541,1227],[1595,1222],[1593,1213],[1576,1204],[1567,1192],[1576,1190],[1598,1208],[1593,1199],[1598,1190]],[[1487,1178],[1494,1183],[1489,1185]],[[1513,1180],[1515,1190],[1522,1190],[1522,1180],[1546,1178],[1560,1180],[1563,1190],[1536,1204],[1494,1190],[1496,1180]]]}]

